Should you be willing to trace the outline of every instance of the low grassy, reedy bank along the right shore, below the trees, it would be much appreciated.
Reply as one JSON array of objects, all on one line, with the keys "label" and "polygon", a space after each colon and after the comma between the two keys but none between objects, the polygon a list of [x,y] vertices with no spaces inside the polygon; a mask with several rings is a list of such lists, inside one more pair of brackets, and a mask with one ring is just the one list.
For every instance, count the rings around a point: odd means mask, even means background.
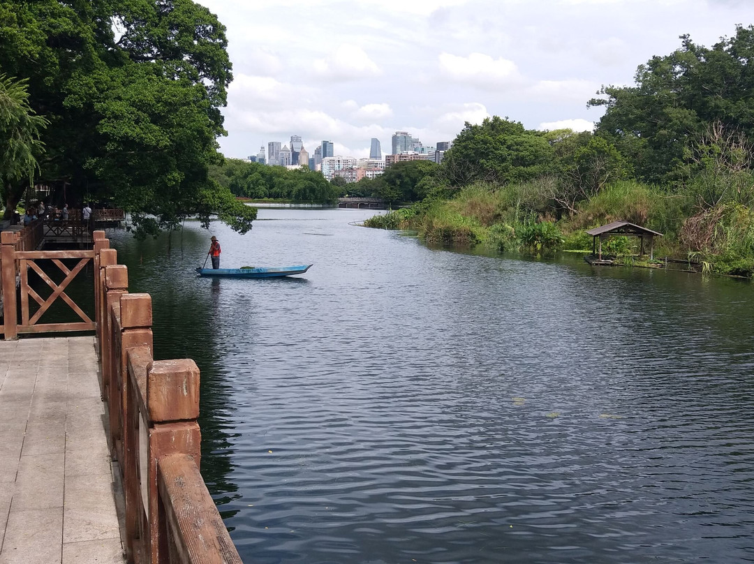
[{"label": "low grassy, reedy bank along the right shore, below the trees", "polygon": [[[478,182],[449,198],[430,198],[411,208],[368,219],[364,225],[412,229],[431,243],[482,244],[496,250],[547,255],[558,250],[591,251],[587,229],[614,221],[643,225],[664,234],[654,256],[691,260],[716,274],[752,277],[754,212],[752,189],[700,200],[700,186],[657,189],[639,182],[606,185],[573,210],[557,210],[547,198],[547,180],[497,186]],[[639,253],[637,238],[615,237],[603,247],[619,259]],[[624,260],[633,264],[634,260]]]}]

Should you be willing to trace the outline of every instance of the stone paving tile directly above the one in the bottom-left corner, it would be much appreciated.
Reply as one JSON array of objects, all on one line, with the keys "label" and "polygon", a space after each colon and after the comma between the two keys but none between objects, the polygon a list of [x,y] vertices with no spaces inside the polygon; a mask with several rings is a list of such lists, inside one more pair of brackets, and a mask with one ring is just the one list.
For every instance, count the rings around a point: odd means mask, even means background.
[{"label": "stone paving tile directly above the one in the bottom-left corner", "polygon": [[63,452],[22,456],[13,494],[14,507],[24,510],[63,507]]}]

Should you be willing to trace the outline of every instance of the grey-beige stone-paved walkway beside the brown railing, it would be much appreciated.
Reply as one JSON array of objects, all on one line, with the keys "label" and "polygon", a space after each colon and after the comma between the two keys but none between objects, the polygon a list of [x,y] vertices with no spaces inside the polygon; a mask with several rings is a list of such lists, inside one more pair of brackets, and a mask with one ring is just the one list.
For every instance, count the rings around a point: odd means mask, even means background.
[{"label": "grey-beige stone-paved walkway beside the brown railing", "polygon": [[122,564],[93,337],[0,342],[0,564]]}]

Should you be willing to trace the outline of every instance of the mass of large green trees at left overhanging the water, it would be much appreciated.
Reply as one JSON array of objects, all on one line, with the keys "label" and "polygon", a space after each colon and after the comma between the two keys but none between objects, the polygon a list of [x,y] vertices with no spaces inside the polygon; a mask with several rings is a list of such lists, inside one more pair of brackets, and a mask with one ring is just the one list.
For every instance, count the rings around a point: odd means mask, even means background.
[{"label": "mass of large green trees at left overhanging the water", "polygon": [[225,27],[207,8],[0,0],[0,36],[0,74],[12,80],[2,88],[23,84],[28,94],[16,96],[26,117],[14,118],[25,135],[15,149],[9,132],[19,129],[3,110],[0,158],[15,163],[3,167],[6,217],[41,183],[58,189],[54,204],[65,187],[72,206],[123,207],[140,236],[187,216],[207,225],[213,213],[251,228],[256,210],[208,174],[222,162],[216,138],[225,134],[220,108],[232,75]]}]

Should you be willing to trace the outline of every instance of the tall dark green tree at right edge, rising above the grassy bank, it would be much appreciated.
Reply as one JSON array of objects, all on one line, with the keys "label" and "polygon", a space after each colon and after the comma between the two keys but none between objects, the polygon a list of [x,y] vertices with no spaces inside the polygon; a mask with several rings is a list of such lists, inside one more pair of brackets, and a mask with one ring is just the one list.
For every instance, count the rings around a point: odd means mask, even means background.
[{"label": "tall dark green tree at right edge, rising above the grassy bank", "polygon": [[590,106],[604,106],[596,134],[605,136],[648,182],[679,179],[684,152],[713,123],[754,133],[754,26],[705,48],[681,36],[672,54],[652,57],[632,87],[603,87]]}]

